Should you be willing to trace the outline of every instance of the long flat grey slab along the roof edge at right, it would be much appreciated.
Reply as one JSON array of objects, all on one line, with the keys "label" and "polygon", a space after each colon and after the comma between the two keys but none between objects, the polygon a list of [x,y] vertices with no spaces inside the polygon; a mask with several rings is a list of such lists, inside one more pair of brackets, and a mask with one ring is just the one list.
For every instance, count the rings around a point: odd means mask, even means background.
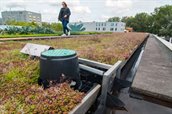
[{"label": "long flat grey slab along the roof edge at right", "polygon": [[132,90],[172,102],[172,53],[150,36],[145,47]]}]

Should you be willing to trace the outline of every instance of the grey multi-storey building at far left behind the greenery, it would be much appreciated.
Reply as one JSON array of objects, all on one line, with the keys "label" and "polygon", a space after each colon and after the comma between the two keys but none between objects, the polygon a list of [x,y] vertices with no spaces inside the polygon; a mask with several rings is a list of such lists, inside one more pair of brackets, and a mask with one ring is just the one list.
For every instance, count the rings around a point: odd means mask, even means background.
[{"label": "grey multi-storey building at far left behind the greenery", "polygon": [[8,20],[36,23],[41,23],[42,21],[40,13],[30,11],[4,11],[1,15],[4,23]]}]

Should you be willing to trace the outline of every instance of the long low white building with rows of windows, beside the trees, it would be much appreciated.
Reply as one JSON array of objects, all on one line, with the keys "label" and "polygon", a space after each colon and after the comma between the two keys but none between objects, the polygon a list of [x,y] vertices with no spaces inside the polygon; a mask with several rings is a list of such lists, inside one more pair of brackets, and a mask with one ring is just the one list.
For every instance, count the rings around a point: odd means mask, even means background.
[{"label": "long low white building with rows of windows, beside the trees", "polygon": [[71,23],[81,27],[84,31],[93,32],[124,32],[126,24],[123,22],[79,22]]}]

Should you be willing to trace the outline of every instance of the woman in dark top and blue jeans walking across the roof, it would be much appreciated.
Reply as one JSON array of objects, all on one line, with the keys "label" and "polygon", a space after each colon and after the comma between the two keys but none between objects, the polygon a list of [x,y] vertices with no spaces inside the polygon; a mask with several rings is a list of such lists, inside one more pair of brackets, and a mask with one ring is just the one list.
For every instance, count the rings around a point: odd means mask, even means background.
[{"label": "woman in dark top and blue jeans walking across the roof", "polygon": [[63,25],[64,34],[62,36],[70,36],[70,30],[67,27],[67,24],[69,23],[70,15],[71,15],[71,12],[66,2],[62,2],[62,8],[60,10],[59,17],[58,17],[59,21],[61,21]]}]

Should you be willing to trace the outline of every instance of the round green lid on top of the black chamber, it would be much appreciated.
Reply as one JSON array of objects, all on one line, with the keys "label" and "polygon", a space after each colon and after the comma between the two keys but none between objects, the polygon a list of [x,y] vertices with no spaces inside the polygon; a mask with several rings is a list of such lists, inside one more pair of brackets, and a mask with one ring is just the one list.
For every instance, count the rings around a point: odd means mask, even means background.
[{"label": "round green lid on top of the black chamber", "polygon": [[70,56],[76,55],[76,51],[69,49],[56,49],[56,50],[48,50],[42,52],[41,56],[45,57],[56,57],[56,58],[66,58]]}]

